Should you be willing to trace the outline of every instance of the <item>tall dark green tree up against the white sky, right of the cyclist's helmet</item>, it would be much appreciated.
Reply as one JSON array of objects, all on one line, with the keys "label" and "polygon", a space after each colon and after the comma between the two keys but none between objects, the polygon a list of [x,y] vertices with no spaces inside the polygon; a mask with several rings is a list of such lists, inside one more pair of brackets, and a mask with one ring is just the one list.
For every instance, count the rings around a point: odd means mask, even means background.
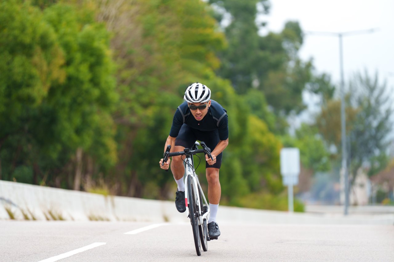
[{"label": "tall dark green tree up against the white sky, right of the cyclist's helmet", "polygon": [[[218,54],[222,62],[217,71],[219,76],[230,79],[240,94],[252,88],[264,92],[278,118],[305,109],[302,92],[312,80],[312,62],[303,62],[298,57],[303,43],[298,22],[287,22],[281,33],[260,36],[258,30],[265,24],[256,24],[256,15],[268,13],[268,1],[209,2],[219,12],[231,15],[230,24],[224,29],[228,48]],[[223,19],[223,16],[217,18]],[[277,129],[284,131],[284,128],[278,126]]]}]

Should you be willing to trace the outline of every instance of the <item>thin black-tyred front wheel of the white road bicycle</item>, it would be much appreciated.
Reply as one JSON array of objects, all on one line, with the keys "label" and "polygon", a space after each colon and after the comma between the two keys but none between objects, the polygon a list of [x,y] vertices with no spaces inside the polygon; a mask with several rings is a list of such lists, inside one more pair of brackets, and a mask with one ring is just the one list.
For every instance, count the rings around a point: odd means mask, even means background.
[{"label": "thin black-tyred front wheel of the white road bicycle", "polygon": [[190,223],[193,229],[194,245],[196,248],[197,256],[201,256],[201,245],[200,245],[200,233],[198,225],[198,210],[197,210],[197,199],[194,194],[194,181],[188,176],[188,200],[189,200],[189,214]]}]

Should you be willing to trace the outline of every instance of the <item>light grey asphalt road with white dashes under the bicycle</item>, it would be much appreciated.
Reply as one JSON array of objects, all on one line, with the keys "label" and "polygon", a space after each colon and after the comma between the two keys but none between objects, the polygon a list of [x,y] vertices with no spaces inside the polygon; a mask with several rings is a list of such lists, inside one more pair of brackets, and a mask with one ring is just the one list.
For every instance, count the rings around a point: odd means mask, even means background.
[{"label": "light grey asphalt road with white dashes under the bicycle", "polygon": [[0,221],[0,261],[394,261],[392,225],[219,226],[197,256],[190,223]]}]

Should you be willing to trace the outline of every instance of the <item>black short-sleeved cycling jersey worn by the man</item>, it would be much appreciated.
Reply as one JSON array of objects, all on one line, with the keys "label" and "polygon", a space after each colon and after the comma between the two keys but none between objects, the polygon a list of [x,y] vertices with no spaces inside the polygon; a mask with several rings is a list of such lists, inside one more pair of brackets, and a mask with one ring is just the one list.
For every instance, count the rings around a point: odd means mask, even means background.
[{"label": "black short-sleeved cycling jersey worn by the man", "polygon": [[199,131],[213,131],[217,129],[220,140],[229,138],[229,121],[227,111],[219,103],[211,100],[208,113],[200,121],[197,121],[190,112],[188,102],[183,102],[175,111],[170,137],[177,137],[182,124],[186,124]]}]

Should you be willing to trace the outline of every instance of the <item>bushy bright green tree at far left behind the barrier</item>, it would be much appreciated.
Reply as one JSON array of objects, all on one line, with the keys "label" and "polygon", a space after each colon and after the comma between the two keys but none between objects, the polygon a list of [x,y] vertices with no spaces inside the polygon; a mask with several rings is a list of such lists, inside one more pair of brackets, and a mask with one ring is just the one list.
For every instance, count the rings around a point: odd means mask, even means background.
[{"label": "bushy bright green tree at far left behind the barrier", "polygon": [[16,167],[27,166],[31,183],[79,189],[82,157],[101,167],[117,158],[109,34],[89,10],[67,4],[41,11],[9,1],[1,8],[1,69],[8,72],[0,81],[2,170],[12,179]]}]

